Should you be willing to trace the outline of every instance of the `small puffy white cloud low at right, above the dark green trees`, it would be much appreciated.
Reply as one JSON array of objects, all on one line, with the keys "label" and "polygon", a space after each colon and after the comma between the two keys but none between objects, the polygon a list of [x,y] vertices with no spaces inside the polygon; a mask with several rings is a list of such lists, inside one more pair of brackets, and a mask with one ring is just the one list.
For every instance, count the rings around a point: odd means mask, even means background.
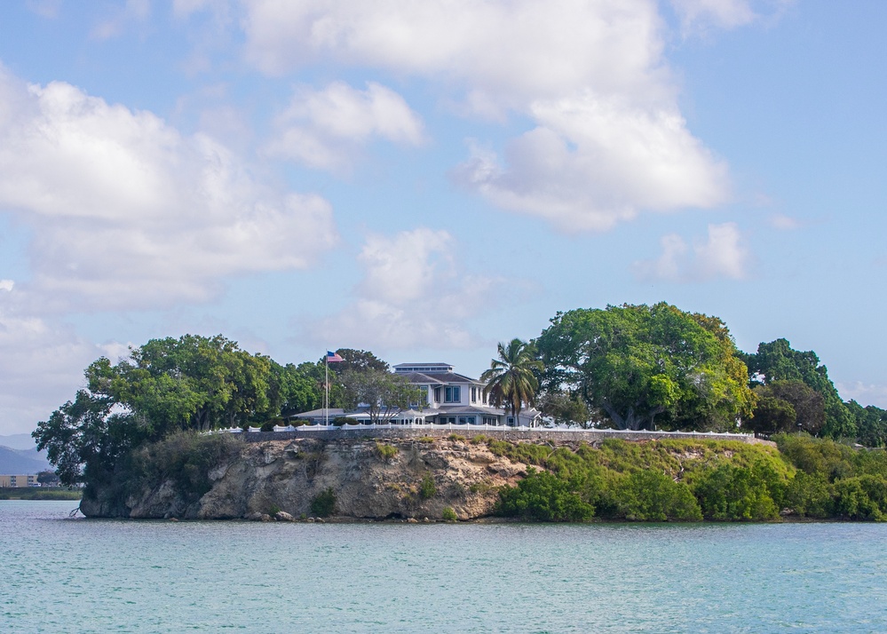
[{"label": "small puffy white cloud low at right, above the dark green trees", "polygon": [[708,239],[696,241],[692,251],[677,234],[661,238],[662,254],[655,260],[639,260],[632,270],[640,280],[709,281],[741,280],[748,274],[749,254],[739,227],[728,222],[709,225]]}]

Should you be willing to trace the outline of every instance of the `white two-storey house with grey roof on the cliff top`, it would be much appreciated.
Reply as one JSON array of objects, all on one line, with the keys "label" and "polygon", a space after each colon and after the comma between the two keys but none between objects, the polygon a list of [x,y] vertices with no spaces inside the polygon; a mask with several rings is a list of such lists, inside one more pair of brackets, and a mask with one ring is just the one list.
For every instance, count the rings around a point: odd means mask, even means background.
[{"label": "white two-storey house with grey roof on the cliff top", "polygon": [[[535,427],[540,413],[521,409],[519,420],[503,408],[491,407],[484,394],[484,384],[478,379],[457,374],[448,363],[400,363],[394,373],[406,376],[422,392],[419,402],[410,403],[408,410],[392,415],[391,424],[488,424],[496,426]],[[322,423],[324,411],[314,409],[296,415],[298,418]],[[346,416],[360,423],[369,422],[365,409],[344,411],[330,409],[329,420]]]}]

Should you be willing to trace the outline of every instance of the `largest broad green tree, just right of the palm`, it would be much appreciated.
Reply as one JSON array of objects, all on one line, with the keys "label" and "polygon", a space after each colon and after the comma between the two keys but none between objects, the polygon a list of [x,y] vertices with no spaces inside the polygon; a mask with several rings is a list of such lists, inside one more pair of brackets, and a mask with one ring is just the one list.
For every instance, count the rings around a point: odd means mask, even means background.
[{"label": "largest broad green tree, just right of the palm", "polygon": [[755,402],[724,323],[665,303],[558,313],[535,345],[545,390],[619,429],[733,429]]}]

